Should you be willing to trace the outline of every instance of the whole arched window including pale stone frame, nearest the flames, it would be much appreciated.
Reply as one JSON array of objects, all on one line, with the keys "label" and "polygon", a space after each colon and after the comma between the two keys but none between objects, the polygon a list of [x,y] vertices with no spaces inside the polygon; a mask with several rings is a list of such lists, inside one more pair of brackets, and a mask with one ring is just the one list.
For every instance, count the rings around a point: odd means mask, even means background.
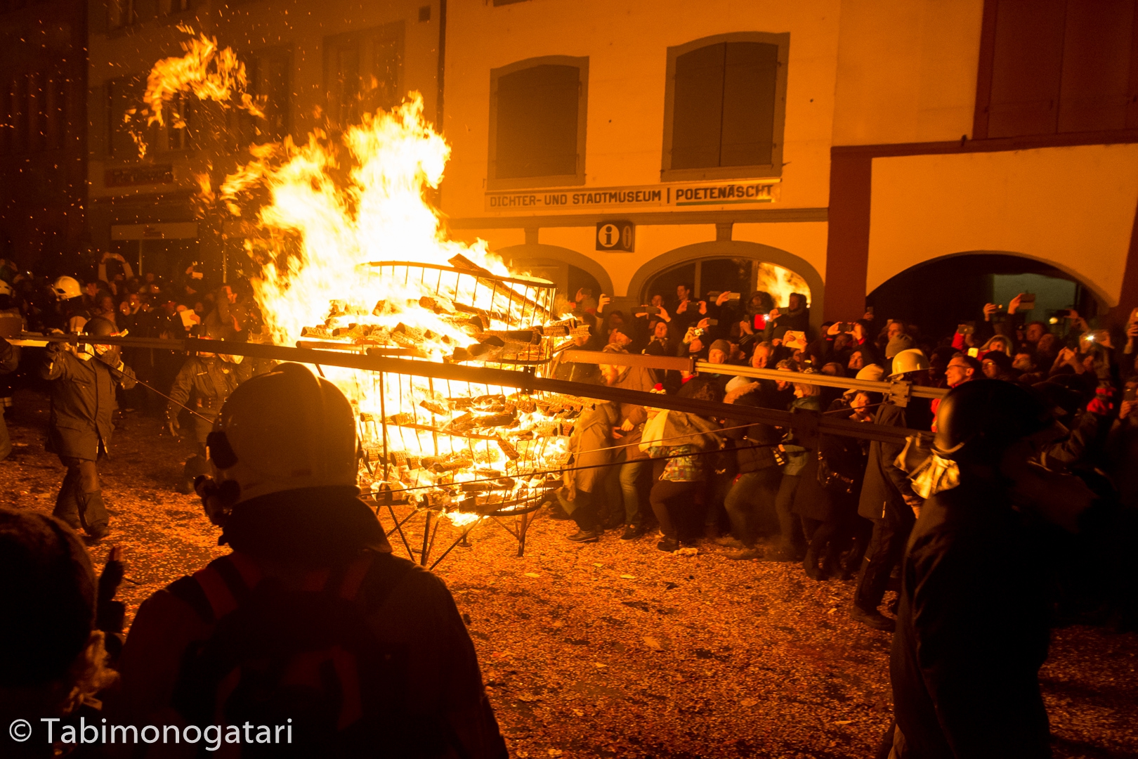
[{"label": "whole arched window including pale stone frame, nearest the flames", "polygon": [[490,71],[489,189],[585,183],[588,58]]}]

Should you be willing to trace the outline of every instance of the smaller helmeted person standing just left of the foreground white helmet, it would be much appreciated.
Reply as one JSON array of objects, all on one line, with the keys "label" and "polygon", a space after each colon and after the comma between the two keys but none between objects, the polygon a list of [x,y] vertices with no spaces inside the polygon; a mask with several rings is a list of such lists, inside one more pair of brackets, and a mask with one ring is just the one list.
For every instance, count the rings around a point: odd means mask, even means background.
[{"label": "smaller helmeted person standing just left of the foreground white helmet", "polygon": [[[200,328],[197,328],[200,329]],[[221,336],[214,329],[203,335],[216,340]],[[249,377],[250,364],[241,362],[241,356],[218,356],[215,353],[198,353],[182,364],[170,389],[166,420],[171,434],[176,438],[181,431],[179,412],[188,406],[193,412],[193,455],[185,461],[179,493],[192,493],[193,479],[208,471],[206,464],[206,436],[213,428],[217,412],[225,398],[238,385]]]}]

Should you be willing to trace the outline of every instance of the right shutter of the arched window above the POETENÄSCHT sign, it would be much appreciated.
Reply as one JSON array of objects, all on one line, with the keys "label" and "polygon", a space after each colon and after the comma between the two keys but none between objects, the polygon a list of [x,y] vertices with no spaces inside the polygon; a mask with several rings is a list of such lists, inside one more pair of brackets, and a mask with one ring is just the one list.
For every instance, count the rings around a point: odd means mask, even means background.
[{"label": "right shutter of the arched window above the POETEN\u00c4SCHT sign", "polygon": [[765,166],[770,163],[777,79],[778,46],[727,43],[720,166]]}]

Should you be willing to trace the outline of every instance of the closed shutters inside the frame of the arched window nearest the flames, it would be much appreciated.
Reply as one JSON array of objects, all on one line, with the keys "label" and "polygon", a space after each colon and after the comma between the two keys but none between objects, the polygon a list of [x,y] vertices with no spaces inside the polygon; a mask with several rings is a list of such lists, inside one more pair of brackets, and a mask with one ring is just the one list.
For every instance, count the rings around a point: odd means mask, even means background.
[{"label": "closed shutters inside the frame of the arched window nearest the flames", "polygon": [[577,174],[580,69],[543,64],[497,80],[495,179]]}]

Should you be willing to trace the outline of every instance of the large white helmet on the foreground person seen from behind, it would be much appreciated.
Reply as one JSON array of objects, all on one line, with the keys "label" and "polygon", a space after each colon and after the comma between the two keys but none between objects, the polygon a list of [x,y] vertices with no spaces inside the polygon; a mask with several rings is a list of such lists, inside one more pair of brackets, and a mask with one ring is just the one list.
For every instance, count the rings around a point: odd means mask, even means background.
[{"label": "large white helmet on the foreground person seen from behind", "polygon": [[207,512],[282,490],[356,486],[352,405],[303,364],[280,364],[233,390],[206,446],[213,481],[197,489]]}]

